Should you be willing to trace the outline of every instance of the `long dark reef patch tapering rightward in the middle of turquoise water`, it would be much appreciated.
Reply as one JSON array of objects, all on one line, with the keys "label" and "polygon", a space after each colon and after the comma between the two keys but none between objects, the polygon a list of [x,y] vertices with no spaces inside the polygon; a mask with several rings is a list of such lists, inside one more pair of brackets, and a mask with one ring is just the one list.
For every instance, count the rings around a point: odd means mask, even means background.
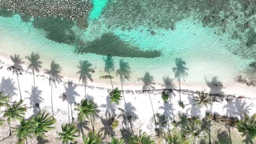
[{"label": "long dark reef patch tapering rightward in the middle of turquoise water", "polygon": [[88,43],[80,41],[75,52],[96,53],[98,55],[110,55],[118,57],[154,58],[161,56],[160,51],[139,50],[139,47],[131,46],[129,43],[121,40],[118,36],[112,33],[103,34],[101,38]]}]

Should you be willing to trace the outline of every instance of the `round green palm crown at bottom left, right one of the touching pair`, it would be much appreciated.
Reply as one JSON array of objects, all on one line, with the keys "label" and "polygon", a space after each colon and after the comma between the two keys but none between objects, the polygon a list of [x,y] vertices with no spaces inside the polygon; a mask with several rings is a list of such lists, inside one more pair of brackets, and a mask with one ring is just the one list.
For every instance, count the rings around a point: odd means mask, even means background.
[{"label": "round green palm crown at bottom left, right one of the touching pair", "polygon": [[55,119],[49,116],[49,113],[38,112],[36,116],[31,118],[31,123],[34,125],[34,135],[40,137],[46,137],[45,133],[55,129],[52,125],[55,123]]}]

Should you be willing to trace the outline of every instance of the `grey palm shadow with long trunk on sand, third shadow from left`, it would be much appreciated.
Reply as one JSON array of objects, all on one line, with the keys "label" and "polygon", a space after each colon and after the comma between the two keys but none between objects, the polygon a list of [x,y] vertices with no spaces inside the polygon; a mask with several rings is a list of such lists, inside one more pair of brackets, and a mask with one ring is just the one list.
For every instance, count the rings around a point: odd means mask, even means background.
[{"label": "grey palm shadow with long trunk on sand, third shadow from left", "polygon": [[76,86],[73,85],[73,82],[68,82],[68,86],[64,86],[65,87],[65,99],[63,100],[67,100],[68,103],[68,122],[69,122],[69,105],[71,107],[71,117],[72,117],[72,123],[73,123],[73,112],[72,112],[72,104],[75,103],[75,97],[79,96],[79,94],[77,93],[77,91],[75,91]]}]

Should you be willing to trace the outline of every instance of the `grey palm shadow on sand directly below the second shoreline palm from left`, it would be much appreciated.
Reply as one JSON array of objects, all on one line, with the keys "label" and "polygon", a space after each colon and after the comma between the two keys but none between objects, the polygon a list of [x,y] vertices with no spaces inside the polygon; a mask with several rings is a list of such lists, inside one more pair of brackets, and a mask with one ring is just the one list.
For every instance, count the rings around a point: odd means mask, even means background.
[{"label": "grey palm shadow on sand directly below the second shoreline palm from left", "polygon": [[[38,113],[41,109],[40,107],[36,107],[37,104],[43,103],[44,99],[41,97],[42,91],[38,89],[38,87],[31,87],[31,93],[28,91],[25,91],[25,93],[29,94],[30,97],[28,99],[30,100],[30,106],[33,106],[33,113]],[[26,99],[26,98],[25,98]]]}]

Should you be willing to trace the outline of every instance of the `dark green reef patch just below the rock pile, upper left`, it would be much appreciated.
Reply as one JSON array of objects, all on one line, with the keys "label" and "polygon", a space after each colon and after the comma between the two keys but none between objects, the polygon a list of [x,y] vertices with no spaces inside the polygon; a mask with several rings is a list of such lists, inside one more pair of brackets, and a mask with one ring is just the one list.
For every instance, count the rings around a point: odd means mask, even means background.
[{"label": "dark green reef patch just below the rock pile, upper left", "polygon": [[68,19],[41,17],[33,21],[33,26],[43,28],[47,33],[46,38],[56,41],[57,43],[73,44],[75,34],[72,31],[74,21]]}]

